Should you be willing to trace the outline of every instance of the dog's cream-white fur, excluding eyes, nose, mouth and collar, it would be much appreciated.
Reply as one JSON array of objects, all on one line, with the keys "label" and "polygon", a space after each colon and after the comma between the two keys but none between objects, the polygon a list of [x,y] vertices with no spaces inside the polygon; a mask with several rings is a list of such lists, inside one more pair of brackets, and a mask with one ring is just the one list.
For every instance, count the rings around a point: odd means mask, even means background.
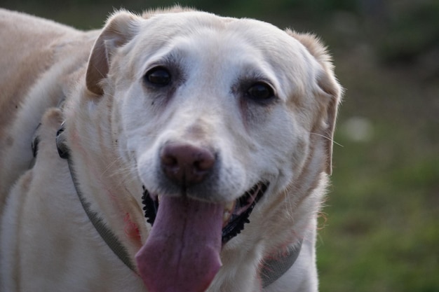
[{"label": "dog's cream-white fur, excluding eyes, nose, mouth and collar", "polygon": [[[133,263],[151,228],[142,214],[142,185],[151,193],[179,195],[163,183],[158,155],[164,144],[178,142],[212,148],[220,158],[215,175],[189,196],[225,204],[259,181],[270,183],[251,222],[223,246],[223,266],[208,292],[317,291],[316,218],[341,94],[329,57],[310,35],[180,10],[143,17],[121,11],[98,37],[75,31],[77,44],[68,50],[71,29],[66,39],[45,36],[58,61],[41,71],[18,114],[0,127],[19,145],[0,152],[0,198],[6,200],[1,291],[146,291],[81,207],[67,161],[55,147],[62,121],[81,191]],[[145,72],[158,65],[180,74],[172,92],[145,85]],[[271,85],[276,101],[258,104],[244,96],[243,83],[258,81]],[[64,98],[64,106],[50,109]],[[39,151],[28,169],[34,134]],[[6,138],[1,143],[8,145]],[[133,236],[133,226],[140,237]],[[300,240],[296,263],[263,289],[264,259]]]}]

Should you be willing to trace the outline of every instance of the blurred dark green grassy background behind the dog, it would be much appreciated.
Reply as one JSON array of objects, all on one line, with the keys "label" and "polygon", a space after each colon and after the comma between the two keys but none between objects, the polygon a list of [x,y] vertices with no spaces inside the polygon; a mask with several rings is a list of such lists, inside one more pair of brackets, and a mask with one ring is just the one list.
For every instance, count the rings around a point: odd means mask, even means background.
[{"label": "blurred dark green grassy background behind the dog", "polygon": [[[93,29],[114,8],[174,3],[0,0],[0,7]],[[179,3],[313,32],[330,48],[346,92],[319,221],[320,291],[439,292],[439,1]]]}]

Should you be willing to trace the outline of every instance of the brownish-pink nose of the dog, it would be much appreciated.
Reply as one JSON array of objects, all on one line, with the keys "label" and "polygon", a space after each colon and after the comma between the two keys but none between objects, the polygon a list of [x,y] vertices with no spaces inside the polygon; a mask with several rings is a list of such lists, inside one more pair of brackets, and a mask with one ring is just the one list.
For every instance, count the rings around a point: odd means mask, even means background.
[{"label": "brownish-pink nose of the dog", "polygon": [[166,176],[185,187],[203,181],[215,165],[212,151],[189,144],[166,144],[160,159]]}]

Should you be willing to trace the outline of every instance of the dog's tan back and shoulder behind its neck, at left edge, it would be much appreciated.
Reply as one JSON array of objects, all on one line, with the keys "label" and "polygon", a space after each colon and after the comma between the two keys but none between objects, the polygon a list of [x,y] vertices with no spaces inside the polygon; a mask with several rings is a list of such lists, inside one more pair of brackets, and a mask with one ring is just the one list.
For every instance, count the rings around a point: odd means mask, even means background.
[{"label": "dog's tan back and shoulder behind its neck, at left edge", "polygon": [[0,204],[29,168],[43,113],[81,78],[98,33],[0,9]]}]

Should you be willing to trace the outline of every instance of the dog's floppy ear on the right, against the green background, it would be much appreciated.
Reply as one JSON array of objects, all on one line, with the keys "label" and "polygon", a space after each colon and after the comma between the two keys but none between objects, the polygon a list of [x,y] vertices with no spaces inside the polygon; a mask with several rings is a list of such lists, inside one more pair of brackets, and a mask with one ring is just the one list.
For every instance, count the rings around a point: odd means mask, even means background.
[{"label": "dog's floppy ear on the right, against the green background", "polygon": [[337,109],[342,98],[342,87],[339,85],[334,74],[334,66],[331,57],[327,53],[325,46],[312,34],[298,34],[290,29],[286,32],[297,39],[302,45],[316,58],[320,64],[320,71],[316,77],[318,85],[318,102],[323,104],[323,130],[318,133],[325,139],[326,148],[326,168],[327,174],[332,173],[332,142],[334,139],[335,121],[337,119]]}]

